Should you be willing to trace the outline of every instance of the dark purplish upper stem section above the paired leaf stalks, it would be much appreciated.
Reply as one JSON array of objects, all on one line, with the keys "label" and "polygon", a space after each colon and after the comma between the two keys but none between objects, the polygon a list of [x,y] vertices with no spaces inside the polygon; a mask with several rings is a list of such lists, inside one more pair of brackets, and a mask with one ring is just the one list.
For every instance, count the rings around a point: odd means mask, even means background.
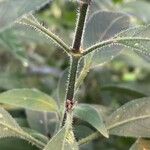
[{"label": "dark purplish upper stem section above the paired leaf stalks", "polygon": [[81,3],[79,7],[79,16],[77,19],[77,26],[75,30],[75,38],[73,41],[73,52],[79,53],[80,52],[80,46],[84,31],[84,26],[86,22],[86,16],[87,16],[87,10],[88,10],[88,4]]}]

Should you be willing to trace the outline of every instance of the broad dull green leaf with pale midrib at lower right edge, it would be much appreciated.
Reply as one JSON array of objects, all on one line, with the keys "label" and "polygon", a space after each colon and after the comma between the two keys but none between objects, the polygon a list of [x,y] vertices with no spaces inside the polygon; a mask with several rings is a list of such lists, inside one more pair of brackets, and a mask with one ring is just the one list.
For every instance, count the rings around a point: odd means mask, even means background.
[{"label": "broad dull green leaf with pale midrib at lower right edge", "polygon": [[133,100],[106,119],[110,134],[128,137],[150,137],[150,97]]}]

